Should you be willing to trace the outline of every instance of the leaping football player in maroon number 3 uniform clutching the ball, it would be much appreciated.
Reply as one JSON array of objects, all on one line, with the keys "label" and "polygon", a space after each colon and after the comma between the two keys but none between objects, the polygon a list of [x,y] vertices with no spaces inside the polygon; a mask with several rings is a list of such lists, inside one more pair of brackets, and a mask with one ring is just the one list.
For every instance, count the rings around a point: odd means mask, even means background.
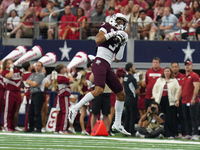
[{"label": "leaping football player in maroon number 3 uniform clutching the ball", "polygon": [[121,125],[121,116],[124,107],[125,93],[122,84],[110,65],[115,56],[115,61],[119,62],[123,58],[128,35],[123,30],[126,28],[127,20],[121,13],[117,13],[110,18],[109,23],[102,23],[99,33],[96,36],[97,55],[93,61],[92,72],[94,74],[95,89],[88,92],[79,103],[69,108],[69,122],[73,123],[77,111],[94,97],[103,93],[105,83],[117,95],[115,103],[115,122],[112,129],[131,135]]}]

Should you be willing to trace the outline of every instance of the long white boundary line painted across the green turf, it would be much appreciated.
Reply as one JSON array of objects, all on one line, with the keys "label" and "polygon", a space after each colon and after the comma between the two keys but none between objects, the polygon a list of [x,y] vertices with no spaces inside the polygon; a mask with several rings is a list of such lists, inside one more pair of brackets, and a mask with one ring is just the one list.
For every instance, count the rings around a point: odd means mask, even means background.
[{"label": "long white boundary line painted across the green turf", "polygon": [[126,142],[146,142],[146,143],[171,143],[171,144],[195,144],[200,145],[196,141],[178,141],[178,140],[157,140],[157,139],[135,139],[135,138],[113,138],[101,136],[82,136],[82,135],[58,135],[58,134],[26,134],[26,133],[0,133],[0,135],[25,136],[25,137],[51,137],[51,138],[74,138],[74,139],[102,139],[116,140]]}]

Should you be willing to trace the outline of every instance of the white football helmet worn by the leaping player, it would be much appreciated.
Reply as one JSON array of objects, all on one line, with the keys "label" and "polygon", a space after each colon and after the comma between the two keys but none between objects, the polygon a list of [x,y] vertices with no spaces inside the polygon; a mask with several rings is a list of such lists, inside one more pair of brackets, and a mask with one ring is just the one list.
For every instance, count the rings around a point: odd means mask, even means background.
[{"label": "white football helmet worn by the leaping player", "polygon": [[[121,19],[123,20],[125,23],[124,25],[118,25],[117,24],[117,19]],[[117,13],[117,14],[114,14],[110,17],[110,20],[109,20],[109,24],[115,28],[117,28],[118,30],[125,30],[126,28],[126,25],[127,25],[127,20],[125,18],[125,16],[121,13]]]}]

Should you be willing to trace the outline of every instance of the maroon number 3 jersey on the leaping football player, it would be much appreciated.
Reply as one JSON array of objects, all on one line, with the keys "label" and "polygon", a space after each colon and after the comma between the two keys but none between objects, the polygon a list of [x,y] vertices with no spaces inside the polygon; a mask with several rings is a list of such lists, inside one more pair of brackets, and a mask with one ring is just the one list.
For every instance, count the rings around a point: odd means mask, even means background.
[{"label": "maroon number 3 jersey on the leaping football player", "polygon": [[[109,23],[105,23],[105,22],[103,22],[101,24],[100,30],[102,30],[105,33],[109,33],[109,32],[112,32],[112,31],[117,31],[116,28],[111,26]],[[110,51],[112,51],[114,54],[117,54],[117,52],[119,51],[119,49],[121,47],[121,44],[116,43],[113,40],[113,37],[112,37],[109,40],[107,40],[107,41],[105,41],[105,42],[103,42],[101,44],[98,44],[97,46],[98,47],[105,47],[106,49],[109,49]]]}]

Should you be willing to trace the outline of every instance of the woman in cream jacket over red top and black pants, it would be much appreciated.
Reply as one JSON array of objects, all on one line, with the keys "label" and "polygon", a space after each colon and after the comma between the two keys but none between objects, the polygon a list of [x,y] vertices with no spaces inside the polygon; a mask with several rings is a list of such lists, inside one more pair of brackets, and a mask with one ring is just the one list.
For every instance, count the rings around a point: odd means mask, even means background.
[{"label": "woman in cream jacket over red top and black pants", "polygon": [[160,78],[154,84],[152,95],[155,101],[160,104],[161,111],[166,115],[165,137],[174,139],[176,134],[176,107],[178,99],[179,83],[173,78],[172,71],[166,67]]}]

